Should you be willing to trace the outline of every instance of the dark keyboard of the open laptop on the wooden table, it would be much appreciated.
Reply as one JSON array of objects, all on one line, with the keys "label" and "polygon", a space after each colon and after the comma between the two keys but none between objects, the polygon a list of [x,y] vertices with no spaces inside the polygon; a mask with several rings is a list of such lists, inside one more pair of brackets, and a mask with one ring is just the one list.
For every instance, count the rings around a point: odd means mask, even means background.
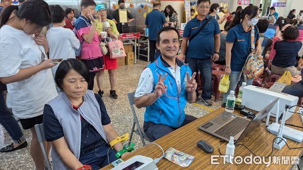
[{"label": "dark keyboard of the open laptop on the wooden table", "polygon": [[216,130],[214,133],[229,139],[230,136],[235,136],[241,130],[246,128],[249,122],[250,120],[235,117],[233,120]]}]

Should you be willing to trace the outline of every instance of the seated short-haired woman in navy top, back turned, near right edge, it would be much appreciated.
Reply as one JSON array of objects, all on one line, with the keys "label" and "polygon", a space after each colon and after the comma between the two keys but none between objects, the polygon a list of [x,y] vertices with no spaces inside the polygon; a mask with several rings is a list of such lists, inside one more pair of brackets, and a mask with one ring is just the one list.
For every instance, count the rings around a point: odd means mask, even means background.
[{"label": "seated short-haired woman in navy top, back turned, near right edge", "polygon": [[301,74],[295,67],[296,55],[302,46],[300,41],[296,41],[298,36],[299,31],[296,26],[289,26],[284,30],[282,33],[283,40],[277,41],[274,45],[276,55],[271,66],[272,73],[283,75],[288,70],[292,76]]}]

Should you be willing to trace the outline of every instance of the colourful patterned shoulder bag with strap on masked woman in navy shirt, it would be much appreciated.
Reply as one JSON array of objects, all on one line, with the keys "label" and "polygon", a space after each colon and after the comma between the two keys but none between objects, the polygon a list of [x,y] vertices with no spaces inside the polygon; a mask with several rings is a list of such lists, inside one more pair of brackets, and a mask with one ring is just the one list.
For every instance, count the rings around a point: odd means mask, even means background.
[{"label": "colourful patterned shoulder bag with strap on masked woman in navy shirt", "polygon": [[[255,27],[251,26],[250,31],[251,38],[251,49],[255,49]],[[245,61],[245,64],[242,68],[242,73],[244,76],[244,81],[248,79],[255,79],[259,77],[264,71],[264,60],[262,55],[257,55],[250,53]],[[240,75],[241,76],[241,75]]]}]

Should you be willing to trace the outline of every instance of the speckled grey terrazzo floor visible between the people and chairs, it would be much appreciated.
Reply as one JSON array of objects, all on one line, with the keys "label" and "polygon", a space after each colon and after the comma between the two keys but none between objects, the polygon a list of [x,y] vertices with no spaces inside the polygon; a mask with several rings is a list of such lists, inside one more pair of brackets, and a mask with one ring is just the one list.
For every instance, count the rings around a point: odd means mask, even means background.
[{"label": "speckled grey terrazzo floor visible between the people and chairs", "polygon": [[[117,100],[109,97],[110,83],[109,76],[106,73],[104,79],[104,102],[107,111],[111,117],[112,124],[118,134],[123,135],[130,133],[132,126],[132,112],[128,103],[127,93],[135,91],[138,83],[138,79],[141,71],[148,64],[145,61],[137,60],[137,64],[125,65],[117,69]],[[97,86],[95,84],[94,92],[96,93]],[[201,103],[201,100],[197,101],[200,106],[205,106]],[[217,109],[221,105],[221,102],[214,103],[210,109]],[[201,117],[209,113],[210,110],[201,108],[193,104],[187,104],[185,109],[186,114],[193,115],[195,117]],[[136,109],[138,120],[142,125],[144,109]],[[30,143],[31,133],[29,130],[23,131],[28,143]],[[135,142],[135,148],[142,146],[141,140],[138,135],[134,134],[133,141]],[[0,147],[3,147],[12,142],[10,136],[5,129],[0,125]],[[27,149],[21,149],[9,153],[0,153],[0,169],[34,169],[34,162]]]}]

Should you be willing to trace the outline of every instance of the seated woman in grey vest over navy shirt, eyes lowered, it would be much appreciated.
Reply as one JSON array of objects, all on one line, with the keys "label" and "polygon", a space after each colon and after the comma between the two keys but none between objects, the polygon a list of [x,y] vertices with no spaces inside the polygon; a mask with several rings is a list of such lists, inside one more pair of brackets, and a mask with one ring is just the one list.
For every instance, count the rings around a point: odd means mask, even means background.
[{"label": "seated woman in grey vest over navy shirt, eyes lowered", "polygon": [[64,60],[55,80],[62,92],[45,105],[43,113],[45,138],[55,146],[54,169],[99,169],[116,160],[123,146],[121,142],[114,149],[109,145],[118,134],[100,96],[87,90],[86,66],[77,59]]}]

